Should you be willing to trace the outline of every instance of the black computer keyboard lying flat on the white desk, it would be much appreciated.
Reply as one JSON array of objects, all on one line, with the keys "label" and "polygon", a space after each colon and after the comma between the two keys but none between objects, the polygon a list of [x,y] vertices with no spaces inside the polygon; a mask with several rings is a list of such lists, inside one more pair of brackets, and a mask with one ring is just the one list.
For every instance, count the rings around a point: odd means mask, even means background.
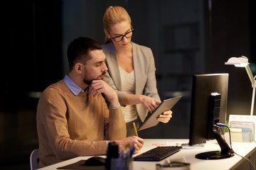
[{"label": "black computer keyboard lying flat on the white desk", "polygon": [[161,161],[166,157],[171,156],[180,151],[182,147],[168,146],[168,147],[154,147],[142,154],[134,157],[134,161]]}]

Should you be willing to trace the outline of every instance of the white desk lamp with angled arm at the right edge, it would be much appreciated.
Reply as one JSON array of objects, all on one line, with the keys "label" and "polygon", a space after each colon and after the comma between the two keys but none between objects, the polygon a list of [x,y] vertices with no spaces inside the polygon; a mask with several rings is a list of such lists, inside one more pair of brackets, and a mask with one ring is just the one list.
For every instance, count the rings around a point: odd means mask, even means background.
[{"label": "white desk lamp with angled arm at the right edge", "polygon": [[250,115],[253,115],[253,108],[254,108],[254,103],[255,103],[255,86],[256,86],[256,81],[255,77],[252,75],[252,71],[249,67],[249,62],[247,57],[241,56],[241,57],[231,57],[228,62],[225,62],[225,64],[228,65],[235,65],[235,67],[245,67],[246,72],[248,74],[248,77],[252,83],[252,106],[251,106],[251,111]]}]

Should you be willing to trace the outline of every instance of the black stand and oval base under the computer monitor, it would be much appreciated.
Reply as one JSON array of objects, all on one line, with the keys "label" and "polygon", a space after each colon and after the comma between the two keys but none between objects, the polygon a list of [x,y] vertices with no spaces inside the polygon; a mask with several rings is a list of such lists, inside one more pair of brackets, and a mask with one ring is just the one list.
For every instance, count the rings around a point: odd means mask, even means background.
[{"label": "black stand and oval base under the computer monitor", "polygon": [[221,137],[220,134],[214,132],[214,138],[217,140],[218,145],[220,145],[221,151],[211,151],[196,154],[197,159],[223,159],[234,156],[233,149],[230,149],[227,142],[223,140],[223,137]]}]

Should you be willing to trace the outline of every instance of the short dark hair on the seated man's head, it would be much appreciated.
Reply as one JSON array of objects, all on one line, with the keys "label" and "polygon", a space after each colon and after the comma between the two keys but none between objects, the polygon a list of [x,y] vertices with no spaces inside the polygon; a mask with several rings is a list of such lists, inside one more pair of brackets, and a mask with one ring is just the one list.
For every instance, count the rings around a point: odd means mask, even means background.
[{"label": "short dark hair on the seated man's head", "polygon": [[88,60],[92,59],[88,55],[91,50],[102,50],[102,46],[99,42],[84,37],[76,38],[70,42],[67,52],[70,71],[75,66],[75,63],[82,62],[82,64],[86,64]]}]

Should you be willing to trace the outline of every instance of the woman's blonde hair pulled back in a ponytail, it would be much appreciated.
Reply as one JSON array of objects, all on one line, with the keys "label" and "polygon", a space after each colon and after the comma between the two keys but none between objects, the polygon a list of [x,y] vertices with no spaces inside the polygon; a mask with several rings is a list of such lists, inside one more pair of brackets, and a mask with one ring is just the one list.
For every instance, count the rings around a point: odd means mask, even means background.
[{"label": "woman's blonde hair pulled back in a ponytail", "polygon": [[[107,8],[103,16],[103,25],[105,30],[110,31],[111,26],[121,23],[122,21],[127,21],[132,25],[131,18],[124,8],[121,6],[110,6]],[[108,42],[111,42],[111,39],[107,38],[107,35],[105,35],[104,44],[107,44]]]}]

